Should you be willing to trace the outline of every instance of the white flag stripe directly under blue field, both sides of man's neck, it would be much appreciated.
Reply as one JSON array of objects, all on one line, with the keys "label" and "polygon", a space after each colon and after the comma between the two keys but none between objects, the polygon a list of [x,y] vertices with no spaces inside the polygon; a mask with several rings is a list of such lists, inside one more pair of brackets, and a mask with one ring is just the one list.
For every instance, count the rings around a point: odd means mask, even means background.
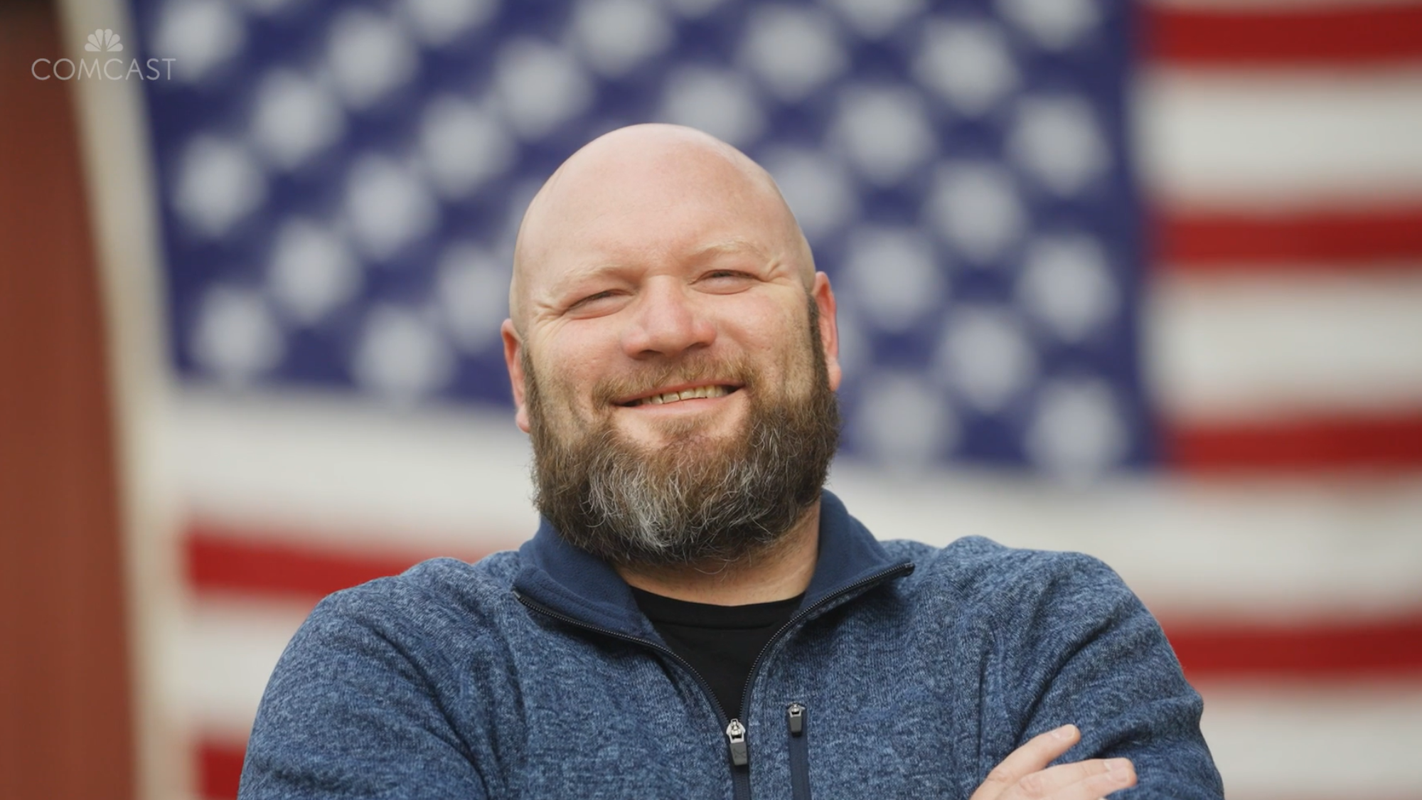
[{"label": "white flag stripe directly under blue field, both sides of man's neck", "polygon": [[[181,407],[173,438],[199,514],[287,522],[358,551],[459,555],[533,532],[528,446],[508,434],[503,414],[414,419],[334,400],[192,394]],[[1422,605],[1422,478],[1066,490],[843,461],[830,487],[883,538],[947,544],[975,534],[1091,552],[1153,608],[1287,618]]]}]

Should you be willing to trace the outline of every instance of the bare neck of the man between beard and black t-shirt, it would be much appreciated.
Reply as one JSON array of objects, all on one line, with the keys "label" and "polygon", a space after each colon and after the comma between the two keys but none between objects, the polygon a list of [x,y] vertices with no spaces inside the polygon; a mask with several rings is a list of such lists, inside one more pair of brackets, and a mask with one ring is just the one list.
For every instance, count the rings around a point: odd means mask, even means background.
[{"label": "bare neck of the man between beard and black t-shirt", "polygon": [[819,501],[769,548],[741,561],[698,567],[617,567],[630,586],[711,605],[774,602],[803,594],[819,558]]}]

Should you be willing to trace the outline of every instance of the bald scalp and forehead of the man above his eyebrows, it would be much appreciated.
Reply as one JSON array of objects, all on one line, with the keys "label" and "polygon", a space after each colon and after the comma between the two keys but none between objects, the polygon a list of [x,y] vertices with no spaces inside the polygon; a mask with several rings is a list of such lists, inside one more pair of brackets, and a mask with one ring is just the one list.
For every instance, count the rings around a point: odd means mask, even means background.
[{"label": "bald scalp and forehead of the man above his eyebrows", "polygon": [[771,175],[694,128],[619,128],[574,152],[543,184],[519,226],[509,316],[525,330],[540,299],[579,269],[747,248],[799,275],[815,263]]}]

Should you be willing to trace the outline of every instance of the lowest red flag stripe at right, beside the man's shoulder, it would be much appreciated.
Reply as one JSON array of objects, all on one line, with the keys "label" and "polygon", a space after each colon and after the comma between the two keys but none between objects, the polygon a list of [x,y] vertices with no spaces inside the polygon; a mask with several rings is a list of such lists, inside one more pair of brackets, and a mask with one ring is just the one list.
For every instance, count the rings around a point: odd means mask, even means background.
[{"label": "lowest red flag stripe at right, beside the man's shoulder", "polygon": [[1422,679],[1422,614],[1307,626],[1167,622],[1166,636],[1194,679]]}]

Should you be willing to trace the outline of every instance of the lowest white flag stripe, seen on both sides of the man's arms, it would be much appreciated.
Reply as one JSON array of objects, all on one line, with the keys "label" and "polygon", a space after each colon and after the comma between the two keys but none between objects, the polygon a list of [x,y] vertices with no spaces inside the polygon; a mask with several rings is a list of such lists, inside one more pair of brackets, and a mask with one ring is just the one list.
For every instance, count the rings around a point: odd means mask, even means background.
[{"label": "lowest white flag stripe, seen on both sides of the man's arms", "polygon": [[[199,602],[186,625],[181,698],[192,730],[242,742],[304,606]],[[1236,800],[1404,797],[1422,786],[1422,689],[1202,686],[1202,727]]]}]

